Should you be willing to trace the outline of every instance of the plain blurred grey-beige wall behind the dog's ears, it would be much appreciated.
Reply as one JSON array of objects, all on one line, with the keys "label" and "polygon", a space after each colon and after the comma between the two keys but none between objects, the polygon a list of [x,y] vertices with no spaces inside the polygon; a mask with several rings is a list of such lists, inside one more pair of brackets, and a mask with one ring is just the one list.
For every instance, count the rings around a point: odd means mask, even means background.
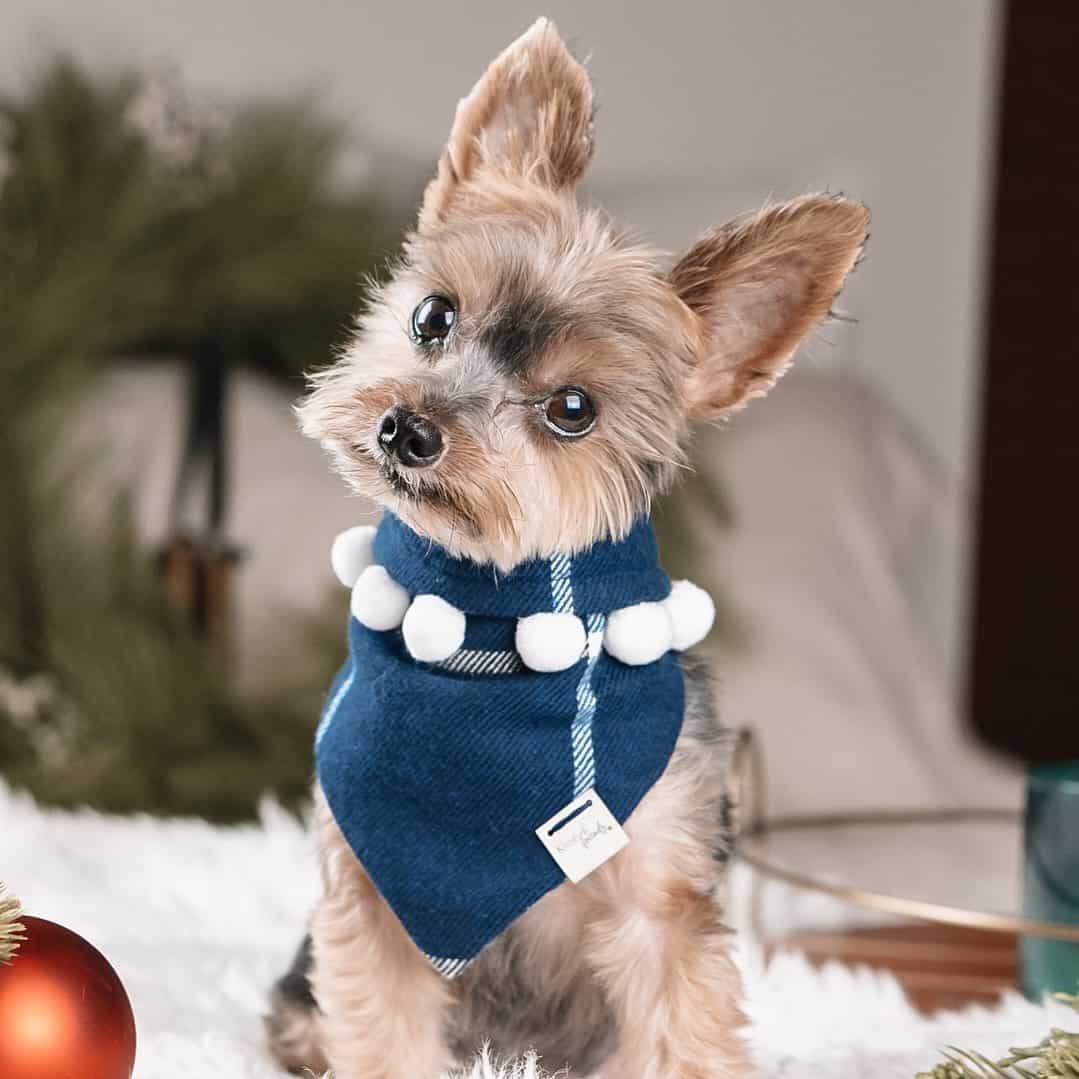
[{"label": "plain blurred grey-beige wall behind the dog's ears", "polygon": [[[944,466],[971,474],[995,92],[996,0],[4,0],[0,85],[50,45],[177,60],[200,90],[318,88],[395,160],[427,168],[456,98],[541,13],[590,57],[592,191],[663,246],[811,188],[873,209],[845,293],[857,326],[803,364],[866,374]],[[832,344],[829,344],[829,339]],[[962,543],[930,572],[961,611]]]}]

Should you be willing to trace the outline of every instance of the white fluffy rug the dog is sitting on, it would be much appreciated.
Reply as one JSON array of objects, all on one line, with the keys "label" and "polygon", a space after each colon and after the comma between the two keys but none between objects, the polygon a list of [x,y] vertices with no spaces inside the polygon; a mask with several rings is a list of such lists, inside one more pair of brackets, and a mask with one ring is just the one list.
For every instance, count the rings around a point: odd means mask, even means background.
[{"label": "white fluffy rug the dog is sitting on", "polygon": [[[214,829],[44,811],[0,784],[0,878],[28,913],[76,929],[112,960],[135,1007],[136,1079],[281,1079],[259,1016],[316,888],[290,817],[268,806],[260,828]],[[890,978],[815,972],[797,956],[765,969],[752,942],[742,959],[764,1077],[912,1079],[942,1046],[997,1055],[1075,1022],[1015,995],[995,1011],[927,1021]]]}]

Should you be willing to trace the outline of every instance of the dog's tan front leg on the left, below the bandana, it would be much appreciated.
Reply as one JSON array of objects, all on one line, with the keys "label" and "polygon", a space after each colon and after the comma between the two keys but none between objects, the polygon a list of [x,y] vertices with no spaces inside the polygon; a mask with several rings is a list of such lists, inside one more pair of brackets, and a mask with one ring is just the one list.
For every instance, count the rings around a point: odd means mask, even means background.
[{"label": "dog's tan front leg on the left, below the bandana", "polygon": [[324,894],[311,982],[334,1079],[437,1079],[450,1064],[446,983],[408,938],[316,803]]}]

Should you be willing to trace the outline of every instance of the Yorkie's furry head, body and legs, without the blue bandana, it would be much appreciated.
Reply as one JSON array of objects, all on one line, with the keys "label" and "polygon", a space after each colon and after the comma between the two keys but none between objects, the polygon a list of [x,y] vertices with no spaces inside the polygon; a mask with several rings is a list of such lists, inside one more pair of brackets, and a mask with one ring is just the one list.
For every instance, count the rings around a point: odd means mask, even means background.
[{"label": "Yorkie's furry head, body and legs, without the blue bandana", "polygon": [[[588,74],[541,19],[459,105],[399,264],[299,410],[356,491],[498,573],[626,536],[683,466],[689,421],[773,385],[866,240],[862,205],[808,195],[707,232],[667,269],[578,206],[591,155]],[[325,893],[274,995],[277,1060],[435,1079],[489,1042],[582,1076],[750,1074],[719,898],[726,756],[707,672],[680,664],[681,734],[629,845],[453,980],[316,784]]]}]

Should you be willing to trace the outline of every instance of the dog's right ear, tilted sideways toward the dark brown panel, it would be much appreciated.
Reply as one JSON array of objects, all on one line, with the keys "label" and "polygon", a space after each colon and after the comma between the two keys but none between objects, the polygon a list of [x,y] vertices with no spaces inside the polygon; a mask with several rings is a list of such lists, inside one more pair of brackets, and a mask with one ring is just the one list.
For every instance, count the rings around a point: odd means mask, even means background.
[{"label": "dog's right ear, tilted sideways toward the dark brown panel", "polygon": [[831,310],[868,238],[869,210],[806,195],[704,235],[671,271],[697,316],[691,415],[719,418],[768,392]]}]

